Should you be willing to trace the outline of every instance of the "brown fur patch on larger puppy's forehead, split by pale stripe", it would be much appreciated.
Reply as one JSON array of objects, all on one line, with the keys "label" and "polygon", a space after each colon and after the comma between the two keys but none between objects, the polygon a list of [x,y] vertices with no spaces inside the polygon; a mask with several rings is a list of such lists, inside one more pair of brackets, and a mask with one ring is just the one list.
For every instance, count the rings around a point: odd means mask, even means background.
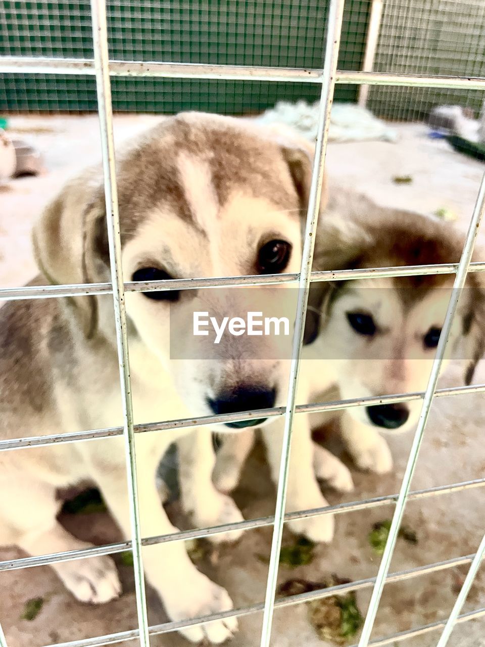
[{"label": "brown fur patch on larger puppy's forehead, split by pale stripe", "polygon": [[187,113],[162,122],[120,158],[118,201],[124,239],[133,236],[156,206],[194,223],[177,166],[181,152],[207,162],[221,206],[235,188],[285,210],[299,206],[275,142],[253,135],[237,121]]}]

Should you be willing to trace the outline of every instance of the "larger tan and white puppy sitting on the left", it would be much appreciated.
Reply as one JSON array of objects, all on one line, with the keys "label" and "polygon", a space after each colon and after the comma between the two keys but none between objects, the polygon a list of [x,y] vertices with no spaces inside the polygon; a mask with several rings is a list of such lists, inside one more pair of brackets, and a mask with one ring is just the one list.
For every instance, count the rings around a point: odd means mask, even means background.
[{"label": "larger tan and white puppy sitting on the left", "polygon": [[[118,156],[125,281],[299,271],[311,168],[305,147],[267,129],[197,113],[167,119]],[[34,245],[42,272],[36,285],[109,281],[99,168],[63,188],[39,220]],[[284,290],[274,289],[275,303]],[[283,401],[288,362],[258,359],[272,343],[266,338],[247,340],[244,353],[220,344],[209,360],[171,360],[170,311],[184,321],[184,313],[195,309],[244,307],[237,296],[231,303],[219,302],[219,294],[126,294],[135,422],[210,415],[228,402],[239,411]],[[10,302],[0,320],[2,439],[122,424],[111,296]],[[184,334],[190,344],[188,329],[180,330]],[[175,531],[160,505],[155,474],[166,448],[184,433],[136,437],[144,536]],[[56,490],[86,479],[98,485],[129,537],[122,438],[1,452],[1,542],[32,555],[84,547],[56,520]],[[197,479],[182,478],[182,488],[186,507],[199,512],[198,521],[217,525],[241,519],[232,499],[217,492],[210,479],[199,490]],[[197,571],[182,542],[147,547],[143,557],[147,580],[171,619],[231,608],[228,593]],[[59,562],[53,568],[85,602],[120,594],[111,558]],[[236,626],[234,619],[224,620],[189,628],[184,635],[219,643]]]}]

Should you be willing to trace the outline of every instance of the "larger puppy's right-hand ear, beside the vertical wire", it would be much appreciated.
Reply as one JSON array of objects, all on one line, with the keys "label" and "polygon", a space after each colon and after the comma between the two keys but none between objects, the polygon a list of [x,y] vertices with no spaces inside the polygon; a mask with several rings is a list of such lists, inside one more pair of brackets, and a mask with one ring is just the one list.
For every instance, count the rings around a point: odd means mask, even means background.
[{"label": "larger puppy's right-hand ear, beside the vertical wire", "polygon": [[[281,152],[288,164],[292,180],[299,195],[301,211],[307,215],[315,144],[305,139],[289,126],[271,124],[268,127],[271,137],[281,146]],[[320,209],[325,209],[328,201],[327,173],[323,175]]]}]

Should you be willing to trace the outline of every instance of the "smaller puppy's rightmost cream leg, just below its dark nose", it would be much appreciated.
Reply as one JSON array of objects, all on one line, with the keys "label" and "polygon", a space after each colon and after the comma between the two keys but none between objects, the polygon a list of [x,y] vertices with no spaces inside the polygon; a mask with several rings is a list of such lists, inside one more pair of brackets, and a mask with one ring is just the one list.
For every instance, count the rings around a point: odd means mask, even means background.
[{"label": "smaller puppy's rightmost cream leg, just below its dark nose", "polygon": [[385,439],[369,424],[356,421],[344,411],[341,434],[349,454],[361,470],[387,474],[393,468],[393,456]]}]

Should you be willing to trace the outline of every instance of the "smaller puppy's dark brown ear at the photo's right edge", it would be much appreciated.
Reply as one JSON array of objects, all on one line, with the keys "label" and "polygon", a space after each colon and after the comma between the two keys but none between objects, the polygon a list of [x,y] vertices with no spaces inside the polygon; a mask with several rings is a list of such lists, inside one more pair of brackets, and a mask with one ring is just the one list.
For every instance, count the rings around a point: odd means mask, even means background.
[{"label": "smaller puppy's dark brown ear at the photo's right edge", "polygon": [[477,275],[472,280],[472,287],[465,288],[469,293],[466,295],[468,307],[462,322],[466,349],[464,382],[467,386],[471,384],[475,368],[485,355],[485,285],[480,285],[483,280]]}]

